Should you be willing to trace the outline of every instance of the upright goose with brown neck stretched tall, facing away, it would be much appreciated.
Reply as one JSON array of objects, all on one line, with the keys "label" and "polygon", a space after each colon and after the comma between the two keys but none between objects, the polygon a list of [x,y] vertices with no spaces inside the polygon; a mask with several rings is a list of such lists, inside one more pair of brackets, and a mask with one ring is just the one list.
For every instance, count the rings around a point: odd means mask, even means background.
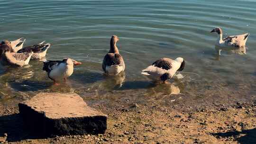
[{"label": "upright goose with brown neck stretched tall, facing away", "polygon": [[125,63],[117,47],[118,36],[112,36],[110,39],[110,51],[105,55],[102,63],[102,69],[107,75],[118,75],[124,72]]}]

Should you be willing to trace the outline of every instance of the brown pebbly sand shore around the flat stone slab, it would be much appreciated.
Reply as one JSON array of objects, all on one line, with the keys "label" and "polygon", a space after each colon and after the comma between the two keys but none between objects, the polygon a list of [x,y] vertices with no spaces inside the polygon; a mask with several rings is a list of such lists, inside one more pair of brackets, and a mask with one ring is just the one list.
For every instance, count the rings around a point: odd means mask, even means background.
[{"label": "brown pebbly sand shore around the flat stone slab", "polygon": [[256,143],[256,101],[209,107],[170,107],[118,101],[111,103],[108,108],[94,107],[108,115],[104,135],[33,137],[22,125],[17,114],[18,106],[3,108],[0,113],[0,127],[3,127],[0,134],[8,133],[8,144]]}]

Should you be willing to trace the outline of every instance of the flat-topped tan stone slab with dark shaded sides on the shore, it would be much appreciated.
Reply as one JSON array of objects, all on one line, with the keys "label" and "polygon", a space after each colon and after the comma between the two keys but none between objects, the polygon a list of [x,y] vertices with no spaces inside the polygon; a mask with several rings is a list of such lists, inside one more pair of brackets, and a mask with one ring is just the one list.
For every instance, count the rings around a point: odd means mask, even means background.
[{"label": "flat-topped tan stone slab with dark shaded sides on the shore", "polygon": [[26,126],[42,136],[103,134],[107,116],[74,93],[39,93],[18,104]]}]

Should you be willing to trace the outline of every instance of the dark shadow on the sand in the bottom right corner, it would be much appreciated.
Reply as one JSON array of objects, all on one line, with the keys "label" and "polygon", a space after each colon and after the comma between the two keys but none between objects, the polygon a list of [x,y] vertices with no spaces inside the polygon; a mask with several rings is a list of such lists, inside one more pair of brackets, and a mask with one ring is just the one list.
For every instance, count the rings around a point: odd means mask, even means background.
[{"label": "dark shadow on the sand in the bottom right corner", "polygon": [[243,130],[241,132],[238,131],[230,131],[226,133],[215,133],[212,134],[214,136],[221,136],[221,137],[238,137],[236,140],[239,144],[256,144],[256,128]]}]

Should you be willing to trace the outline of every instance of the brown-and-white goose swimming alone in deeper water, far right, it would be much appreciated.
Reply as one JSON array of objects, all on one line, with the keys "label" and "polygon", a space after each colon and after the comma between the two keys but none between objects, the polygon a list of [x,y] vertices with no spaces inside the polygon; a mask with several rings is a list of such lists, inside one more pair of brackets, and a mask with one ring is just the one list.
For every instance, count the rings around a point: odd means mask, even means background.
[{"label": "brown-and-white goose swimming alone in deeper water, far right", "polygon": [[239,48],[245,46],[247,38],[249,36],[249,33],[246,33],[243,35],[228,36],[222,38],[223,32],[222,29],[219,27],[216,27],[211,31],[211,33],[214,32],[218,34],[216,45],[219,47]]}]

